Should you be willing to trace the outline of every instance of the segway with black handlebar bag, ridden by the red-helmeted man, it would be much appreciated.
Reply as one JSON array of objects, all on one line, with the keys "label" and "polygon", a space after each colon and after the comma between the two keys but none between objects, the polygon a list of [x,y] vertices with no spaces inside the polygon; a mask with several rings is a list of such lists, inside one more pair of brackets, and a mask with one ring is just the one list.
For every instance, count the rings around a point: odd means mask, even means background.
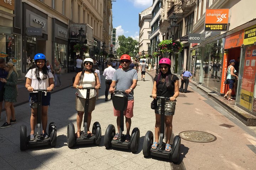
[{"label": "segway with black handlebar bag, ridden by the red-helmeted man", "polygon": [[115,90],[112,96],[113,106],[116,110],[120,111],[120,132],[117,140],[113,140],[116,134],[116,129],[114,125],[110,124],[107,127],[104,137],[104,146],[106,148],[116,147],[130,149],[132,152],[137,152],[139,147],[140,131],[139,128],[134,128],[132,130],[132,135],[129,142],[125,141],[124,131],[124,111],[127,109],[128,98],[125,95],[125,91]]}]

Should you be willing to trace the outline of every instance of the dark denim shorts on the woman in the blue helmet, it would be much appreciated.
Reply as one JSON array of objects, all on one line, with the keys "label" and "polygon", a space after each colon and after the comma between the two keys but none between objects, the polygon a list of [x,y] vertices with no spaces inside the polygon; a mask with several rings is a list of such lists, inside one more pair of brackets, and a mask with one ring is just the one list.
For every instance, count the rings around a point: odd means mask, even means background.
[{"label": "dark denim shorts on the woman in the blue helmet", "polygon": [[[38,93],[30,93],[28,100],[30,102],[30,108],[37,108]],[[48,92],[46,96],[45,96],[45,92],[42,92],[42,106],[49,106],[49,105],[50,105],[50,92]]]}]

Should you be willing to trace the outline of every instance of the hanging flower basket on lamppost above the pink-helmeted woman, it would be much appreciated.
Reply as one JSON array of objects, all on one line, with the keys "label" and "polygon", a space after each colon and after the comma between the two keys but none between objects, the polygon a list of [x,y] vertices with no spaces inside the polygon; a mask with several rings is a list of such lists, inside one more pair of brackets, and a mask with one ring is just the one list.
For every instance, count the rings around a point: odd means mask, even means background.
[{"label": "hanging flower basket on lamppost above the pink-helmeted woman", "polygon": [[159,43],[159,50],[162,53],[180,53],[182,51],[183,44],[180,41],[175,40],[163,40]]}]

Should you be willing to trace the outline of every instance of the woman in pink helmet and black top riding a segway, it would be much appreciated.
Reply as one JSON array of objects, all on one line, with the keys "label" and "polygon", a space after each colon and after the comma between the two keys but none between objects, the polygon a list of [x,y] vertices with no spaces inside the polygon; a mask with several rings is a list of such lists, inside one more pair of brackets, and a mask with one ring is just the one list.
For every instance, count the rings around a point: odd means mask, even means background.
[{"label": "woman in pink helmet and black top riding a segway", "polygon": [[[152,90],[152,97],[156,96],[169,97],[170,101],[165,101],[165,126],[166,126],[166,145],[165,151],[171,151],[170,138],[172,134],[172,118],[175,112],[176,98],[179,95],[178,77],[171,73],[171,60],[169,58],[161,58],[159,61],[160,72],[154,78],[154,85]],[[157,101],[157,108],[155,109],[155,142],[152,149],[156,149],[159,145],[160,135],[160,118],[161,118],[161,100]]]}]

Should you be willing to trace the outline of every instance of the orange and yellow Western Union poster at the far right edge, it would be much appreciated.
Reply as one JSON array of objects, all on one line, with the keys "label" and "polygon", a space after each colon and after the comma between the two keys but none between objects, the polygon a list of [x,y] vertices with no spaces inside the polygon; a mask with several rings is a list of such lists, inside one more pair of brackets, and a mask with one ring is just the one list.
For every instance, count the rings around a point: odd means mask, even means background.
[{"label": "orange and yellow Western Union poster at the far right edge", "polygon": [[256,50],[256,46],[246,47],[245,49],[245,61],[244,72],[241,84],[241,106],[251,110],[252,102],[254,99],[254,84],[255,84],[255,60],[256,55],[253,55],[253,51]]}]

